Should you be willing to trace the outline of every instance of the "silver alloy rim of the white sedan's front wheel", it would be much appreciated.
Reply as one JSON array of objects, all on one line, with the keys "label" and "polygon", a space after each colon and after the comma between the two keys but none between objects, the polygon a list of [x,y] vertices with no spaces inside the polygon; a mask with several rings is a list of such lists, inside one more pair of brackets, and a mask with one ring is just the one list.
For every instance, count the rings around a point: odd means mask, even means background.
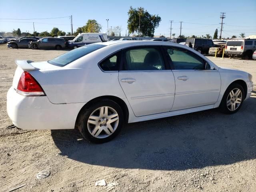
[{"label": "silver alloy rim of the white sedan's front wheel", "polygon": [[228,94],[227,107],[230,111],[235,111],[242,102],[242,91],[239,88],[234,88]]}]

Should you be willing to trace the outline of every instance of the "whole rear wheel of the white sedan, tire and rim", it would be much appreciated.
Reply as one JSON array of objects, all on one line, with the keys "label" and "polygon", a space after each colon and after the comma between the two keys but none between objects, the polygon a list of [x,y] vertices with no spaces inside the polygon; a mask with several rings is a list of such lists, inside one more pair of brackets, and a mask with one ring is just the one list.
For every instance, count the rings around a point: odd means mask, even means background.
[{"label": "whole rear wheel of the white sedan, tire and rim", "polygon": [[104,143],[118,135],[123,123],[122,108],[112,100],[103,99],[82,109],[77,127],[89,142]]}]

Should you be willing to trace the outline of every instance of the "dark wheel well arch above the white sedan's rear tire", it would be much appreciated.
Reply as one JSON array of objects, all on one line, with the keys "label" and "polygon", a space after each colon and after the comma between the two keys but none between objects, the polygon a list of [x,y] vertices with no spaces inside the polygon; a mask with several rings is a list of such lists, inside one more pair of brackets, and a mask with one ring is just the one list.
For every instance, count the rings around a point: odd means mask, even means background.
[{"label": "dark wheel well arch above the white sedan's rear tire", "polygon": [[[128,122],[129,110],[128,110],[128,107],[127,107],[126,103],[124,102],[124,100],[122,100],[116,96],[107,95],[107,96],[100,96],[100,97],[94,98],[94,99],[90,100],[89,102],[87,102],[79,111],[79,113],[76,117],[76,124],[77,124],[78,117],[84,108],[87,108],[88,106],[90,106],[90,105],[94,104],[95,102],[97,102],[98,100],[102,100],[102,99],[110,99],[110,100],[116,102],[123,110],[124,122],[126,122],[126,123]],[[75,128],[76,128],[76,125],[75,125]]]}]

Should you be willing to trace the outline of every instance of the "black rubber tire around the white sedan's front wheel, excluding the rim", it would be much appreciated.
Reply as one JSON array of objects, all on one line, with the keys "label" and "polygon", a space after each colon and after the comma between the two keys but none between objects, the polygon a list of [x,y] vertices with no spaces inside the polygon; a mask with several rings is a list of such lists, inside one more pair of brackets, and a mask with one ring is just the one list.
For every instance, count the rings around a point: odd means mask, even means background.
[{"label": "black rubber tire around the white sedan's front wheel, excluding the rim", "polygon": [[[226,104],[226,100],[228,98],[228,94],[230,93],[231,90],[235,89],[235,88],[239,88],[242,92],[242,101],[239,105],[239,107],[234,110],[234,111],[230,111],[227,107],[227,104]],[[233,113],[236,113],[238,112],[238,110],[241,108],[243,102],[244,102],[244,99],[245,99],[245,93],[244,93],[244,88],[240,85],[240,84],[231,84],[227,89],[226,89],[226,92],[224,93],[223,97],[222,97],[222,101],[220,103],[220,109],[223,113],[226,113],[226,114],[233,114]]]}]

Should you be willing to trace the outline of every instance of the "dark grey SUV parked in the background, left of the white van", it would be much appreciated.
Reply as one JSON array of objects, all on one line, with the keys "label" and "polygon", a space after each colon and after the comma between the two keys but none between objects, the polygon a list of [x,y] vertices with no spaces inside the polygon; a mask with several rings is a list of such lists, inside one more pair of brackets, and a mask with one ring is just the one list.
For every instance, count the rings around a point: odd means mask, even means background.
[{"label": "dark grey SUV parked in the background, left of the white van", "polygon": [[30,48],[32,49],[45,49],[45,48],[55,48],[62,49],[66,47],[66,42],[63,38],[42,38],[36,42],[30,42]]}]

